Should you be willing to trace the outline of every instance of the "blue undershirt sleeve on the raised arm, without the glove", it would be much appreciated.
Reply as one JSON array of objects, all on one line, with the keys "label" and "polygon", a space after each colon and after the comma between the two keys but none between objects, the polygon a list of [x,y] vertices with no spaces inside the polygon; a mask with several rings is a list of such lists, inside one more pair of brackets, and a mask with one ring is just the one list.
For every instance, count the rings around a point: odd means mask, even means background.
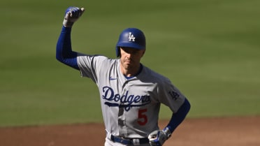
[{"label": "blue undershirt sleeve on the raised arm, without the glove", "polygon": [[78,52],[71,48],[71,27],[62,27],[56,46],[56,59],[67,66],[80,70],[77,63]]}]

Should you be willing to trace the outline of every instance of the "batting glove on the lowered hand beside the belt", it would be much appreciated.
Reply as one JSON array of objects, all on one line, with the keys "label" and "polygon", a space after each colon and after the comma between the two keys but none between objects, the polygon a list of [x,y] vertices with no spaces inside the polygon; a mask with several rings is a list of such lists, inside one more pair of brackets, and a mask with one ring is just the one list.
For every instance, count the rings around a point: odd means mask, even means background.
[{"label": "batting glove on the lowered hand beside the belt", "polygon": [[164,130],[157,130],[150,133],[148,136],[151,146],[161,146],[171,137],[171,131],[167,127]]}]

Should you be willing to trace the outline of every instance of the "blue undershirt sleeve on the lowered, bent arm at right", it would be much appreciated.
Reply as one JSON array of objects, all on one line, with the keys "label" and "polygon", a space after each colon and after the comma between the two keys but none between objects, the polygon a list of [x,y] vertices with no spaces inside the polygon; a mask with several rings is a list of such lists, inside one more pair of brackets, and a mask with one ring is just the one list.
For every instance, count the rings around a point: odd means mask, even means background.
[{"label": "blue undershirt sleeve on the lowered, bent arm at right", "polygon": [[189,112],[191,105],[189,101],[185,98],[185,102],[180,106],[178,112],[173,113],[170,122],[166,127],[170,129],[171,133],[182,123],[186,115]]}]

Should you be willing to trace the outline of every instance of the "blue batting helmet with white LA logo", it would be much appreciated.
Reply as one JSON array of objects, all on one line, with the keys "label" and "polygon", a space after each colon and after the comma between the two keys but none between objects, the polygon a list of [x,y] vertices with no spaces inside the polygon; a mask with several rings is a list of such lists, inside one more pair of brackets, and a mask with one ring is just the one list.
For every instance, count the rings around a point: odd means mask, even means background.
[{"label": "blue batting helmet with white LA logo", "polygon": [[115,47],[117,57],[120,56],[120,47],[122,48],[135,48],[145,50],[145,34],[140,29],[128,28],[124,29],[120,34],[119,40]]}]

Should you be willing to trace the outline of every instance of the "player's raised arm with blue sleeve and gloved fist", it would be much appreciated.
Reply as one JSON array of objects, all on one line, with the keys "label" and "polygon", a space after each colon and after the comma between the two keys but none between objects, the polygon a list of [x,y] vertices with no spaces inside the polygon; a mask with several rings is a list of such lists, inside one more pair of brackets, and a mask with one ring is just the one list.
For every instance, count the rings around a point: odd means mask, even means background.
[{"label": "player's raised arm with blue sleeve and gloved fist", "polygon": [[66,9],[62,32],[56,46],[56,59],[77,70],[79,70],[77,64],[78,52],[73,52],[71,48],[71,27],[83,12],[84,8],[69,7]]}]

